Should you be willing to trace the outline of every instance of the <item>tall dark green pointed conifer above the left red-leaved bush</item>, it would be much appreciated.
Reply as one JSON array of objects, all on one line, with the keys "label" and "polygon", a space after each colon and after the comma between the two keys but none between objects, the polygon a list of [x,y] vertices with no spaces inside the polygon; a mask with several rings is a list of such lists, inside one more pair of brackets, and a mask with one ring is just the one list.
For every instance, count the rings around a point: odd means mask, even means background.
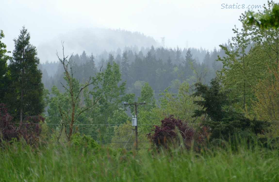
[{"label": "tall dark green pointed conifer above the left red-leaved bush", "polygon": [[44,111],[44,85],[42,72],[38,70],[36,47],[30,44],[30,34],[25,27],[14,39],[15,49],[8,66],[11,75],[9,98],[10,112],[22,122],[23,116],[35,116]]}]

